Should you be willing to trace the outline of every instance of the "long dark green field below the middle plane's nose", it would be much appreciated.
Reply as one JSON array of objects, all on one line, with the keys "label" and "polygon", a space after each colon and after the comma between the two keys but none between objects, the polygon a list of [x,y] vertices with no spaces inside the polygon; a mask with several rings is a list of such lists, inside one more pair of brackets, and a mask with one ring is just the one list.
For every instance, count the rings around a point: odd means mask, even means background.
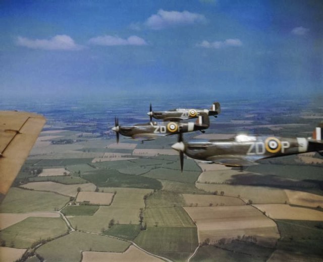
[{"label": "long dark green field below the middle plane's nose", "polygon": [[82,177],[98,187],[134,187],[161,189],[161,183],[153,178],[126,175],[118,170],[97,170],[86,172]]}]

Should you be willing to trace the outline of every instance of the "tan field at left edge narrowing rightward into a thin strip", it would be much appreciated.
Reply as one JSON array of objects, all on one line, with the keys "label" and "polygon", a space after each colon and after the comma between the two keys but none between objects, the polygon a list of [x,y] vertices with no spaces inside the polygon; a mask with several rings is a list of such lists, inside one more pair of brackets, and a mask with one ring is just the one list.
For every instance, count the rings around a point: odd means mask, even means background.
[{"label": "tan field at left edge narrowing rightward into a thin strip", "polygon": [[[56,212],[32,212],[24,214],[0,213],[0,230],[23,221],[29,217],[59,218],[60,214]],[[0,259],[0,261],[2,260]]]}]

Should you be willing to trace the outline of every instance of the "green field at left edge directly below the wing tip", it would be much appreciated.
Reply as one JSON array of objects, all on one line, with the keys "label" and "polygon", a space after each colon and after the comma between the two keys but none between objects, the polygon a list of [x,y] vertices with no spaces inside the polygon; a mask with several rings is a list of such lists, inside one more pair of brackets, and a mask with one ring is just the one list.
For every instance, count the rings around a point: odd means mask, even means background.
[{"label": "green field at left edge directly below the wing tip", "polygon": [[0,206],[1,213],[26,213],[37,211],[55,211],[70,201],[64,195],[34,190],[10,188]]}]

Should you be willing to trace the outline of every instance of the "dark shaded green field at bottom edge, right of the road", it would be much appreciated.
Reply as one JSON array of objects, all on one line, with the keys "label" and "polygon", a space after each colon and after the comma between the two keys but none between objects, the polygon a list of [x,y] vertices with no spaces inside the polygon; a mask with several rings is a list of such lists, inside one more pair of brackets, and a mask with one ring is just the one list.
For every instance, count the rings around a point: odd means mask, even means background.
[{"label": "dark shaded green field at bottom edge, right of the road", "polygon": [[193,262],[212,262],[214,257],[218,261],[266,261],[274,249],[255,245],[253,243],[233,241],[231,244],[221,246],[206,245],[198,248],[197,253],[191,259]]}]

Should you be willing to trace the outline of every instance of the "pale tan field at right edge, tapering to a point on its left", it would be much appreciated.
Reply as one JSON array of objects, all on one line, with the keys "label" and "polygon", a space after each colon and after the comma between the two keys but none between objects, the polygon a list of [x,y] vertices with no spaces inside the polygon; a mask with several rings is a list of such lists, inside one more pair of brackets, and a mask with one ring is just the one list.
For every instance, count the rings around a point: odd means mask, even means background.
[{"label": "pale tan field at right edge, tapering to a point on its left", "polygon": [[291,207],[284,204],[262,204],[254,206],[262,212],[266,212],[266,216],[273,219],[323,221],[323,212],[318,210]]}]

